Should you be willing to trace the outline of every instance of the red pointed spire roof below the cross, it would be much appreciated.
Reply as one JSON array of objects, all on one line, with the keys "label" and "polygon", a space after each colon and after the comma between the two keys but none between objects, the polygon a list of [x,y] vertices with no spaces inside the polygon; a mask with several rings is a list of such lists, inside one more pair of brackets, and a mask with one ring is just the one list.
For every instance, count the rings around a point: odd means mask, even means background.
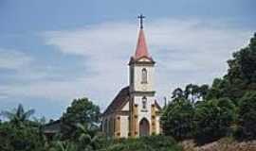
[{"label": "red pointed spire roof below the cross", "polygon": [[146,44],[144,31],[143,31],[142,28],[140,28],[139,34],[138,34],[135,59],[139,59],[141,57],[150,58],[149,53],[148,53],[148,48],[147,48],[147,44]]}]

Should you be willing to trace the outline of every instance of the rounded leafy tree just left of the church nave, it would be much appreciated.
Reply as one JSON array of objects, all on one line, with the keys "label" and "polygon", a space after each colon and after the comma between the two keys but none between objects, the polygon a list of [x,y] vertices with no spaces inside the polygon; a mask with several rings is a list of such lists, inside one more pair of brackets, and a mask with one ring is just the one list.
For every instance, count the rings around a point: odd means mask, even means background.
[{"label": "rounded leafy tree just left of the church nave", "polygon": [[74,99],[61,118],[64,138],[74,137],[78,124],[86,126],[89,130],[98,129],[100,114],[100,108],[87,98]]}]

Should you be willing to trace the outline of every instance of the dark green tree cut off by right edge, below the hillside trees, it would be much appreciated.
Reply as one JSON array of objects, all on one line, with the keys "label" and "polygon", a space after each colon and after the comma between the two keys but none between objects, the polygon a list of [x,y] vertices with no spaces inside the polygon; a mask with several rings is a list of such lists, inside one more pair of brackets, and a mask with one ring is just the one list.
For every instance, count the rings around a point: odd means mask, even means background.
[{"label": "dark green tree cut off by right edge, below the hillside trees", "polygon": [[238,127],[240,139],[256,139],[256,92],[247,92],[240,100]]}]

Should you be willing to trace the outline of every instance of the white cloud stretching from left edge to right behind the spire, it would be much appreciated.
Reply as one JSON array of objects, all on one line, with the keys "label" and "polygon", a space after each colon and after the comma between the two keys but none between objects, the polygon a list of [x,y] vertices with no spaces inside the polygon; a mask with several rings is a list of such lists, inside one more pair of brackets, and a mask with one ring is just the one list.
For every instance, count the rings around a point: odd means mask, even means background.
[{"label": "white cloud stretching from left edge to right behind the spire", "polygon": [[[155,86],[160,101],[176,87],[191,82],[210,84],[214,77],[222,76],[227,70],[226,60],[247,44],[252,34],[252,31],[230,25],[169,19],[147,23],[145,32],[149,51],[156,61]],[[86,68],[79,73],[83,74],[66,73],[74,77],[49,80],[47,77],[65,73],[58,73],[56,67],[40,64],[20,51],[2,48],[0,69],[17,71],[17,82],[2,84],[0,99],[25,96],[64,100],[62,104],[67,104],[72,98],[87,96],[105,109],[128,84],[127,63],[135,53],[136,24],[104,23],[74,30],[47,31],[43,36],[47,45],[61,53],[82,57]]]}]

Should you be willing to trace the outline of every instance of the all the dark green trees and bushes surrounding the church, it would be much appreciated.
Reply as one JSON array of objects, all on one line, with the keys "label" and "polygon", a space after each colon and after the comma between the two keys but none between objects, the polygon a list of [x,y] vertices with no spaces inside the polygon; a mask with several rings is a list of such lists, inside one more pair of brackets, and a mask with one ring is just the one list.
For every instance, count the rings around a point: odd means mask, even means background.
[{"label": "all the dark green trees and bushes surrounding the church", "polygon": [[65,110],[55,135],[45,133],[45,118],[31,119],[33,109],[19,105],[2,111],[8,120],[0,121],[0,151],[179,151],[176,141],[256,140],[256,34],[228,63],[227,75],[215,78],[211,86],[189,84],[174,90],[162,110],[161,136],[106,139],[99,107],[82,98]]}]

